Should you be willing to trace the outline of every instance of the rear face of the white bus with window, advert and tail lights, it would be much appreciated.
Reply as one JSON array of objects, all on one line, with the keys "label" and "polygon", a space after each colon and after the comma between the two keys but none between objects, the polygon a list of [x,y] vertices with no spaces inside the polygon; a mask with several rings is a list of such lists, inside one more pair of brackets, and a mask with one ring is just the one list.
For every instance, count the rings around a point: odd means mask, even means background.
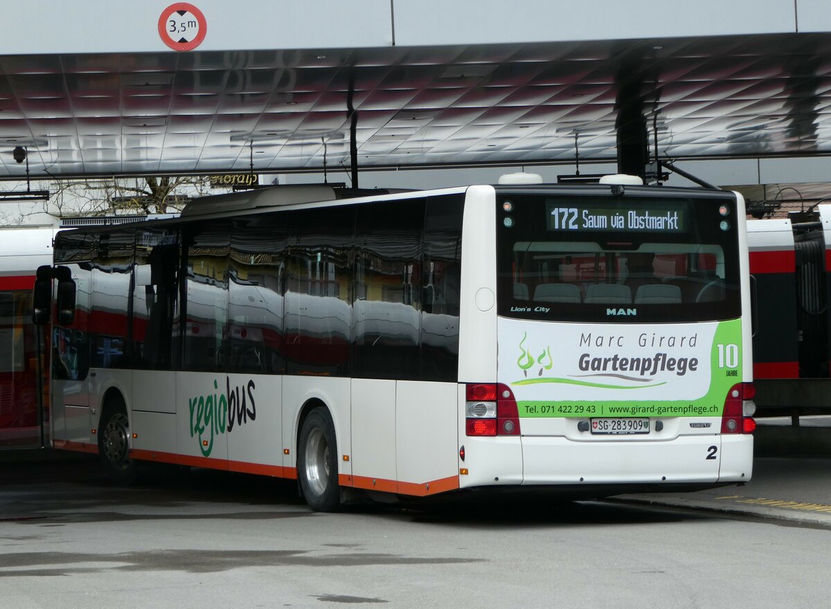
[{"label": "rear face of the white bus with window, advert and tail lights", "polygon": [[495,222],[497,372],[487,382],[469,367],[460,386],[460,485],[750,479],[740,197],[502,188],[480,209]]}]

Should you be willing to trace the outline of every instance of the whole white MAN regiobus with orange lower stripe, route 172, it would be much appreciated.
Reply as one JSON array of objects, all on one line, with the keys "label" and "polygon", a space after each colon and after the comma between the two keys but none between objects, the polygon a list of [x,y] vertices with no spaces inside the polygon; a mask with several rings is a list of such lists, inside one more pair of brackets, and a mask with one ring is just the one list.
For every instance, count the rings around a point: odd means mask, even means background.
[{"label": "whole white MAN regiobus with orange lower stripe, route 172", "polygon": [[746,482],[744,201],[620,181],[278,187],[61,232],[52,444],[122,482],[297,479],[317,510]]}]

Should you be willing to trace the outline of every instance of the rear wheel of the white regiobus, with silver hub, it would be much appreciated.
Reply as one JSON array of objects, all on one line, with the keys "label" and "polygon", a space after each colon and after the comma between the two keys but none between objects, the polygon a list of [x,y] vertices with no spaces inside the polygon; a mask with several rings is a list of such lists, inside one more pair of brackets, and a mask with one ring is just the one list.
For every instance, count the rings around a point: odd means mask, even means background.
[{"label": "rear wheel of the white regiobus, with silver hub", "polygon": [[334,512],[340,508],[335,425],[325,408],[312,410],[303,421],[297,450],[297,477],[310,508],[317,512]]}]

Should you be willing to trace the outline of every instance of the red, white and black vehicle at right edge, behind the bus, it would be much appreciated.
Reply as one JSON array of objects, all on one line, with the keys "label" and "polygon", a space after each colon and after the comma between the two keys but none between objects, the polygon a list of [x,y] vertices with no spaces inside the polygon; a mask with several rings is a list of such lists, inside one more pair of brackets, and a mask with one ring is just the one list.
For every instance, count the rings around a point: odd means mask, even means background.
[{"label": "red, white and black vehicle at right edge, behind the bus", "polygon": [[829,415],[831,205],[747,227],[758,415]]}]

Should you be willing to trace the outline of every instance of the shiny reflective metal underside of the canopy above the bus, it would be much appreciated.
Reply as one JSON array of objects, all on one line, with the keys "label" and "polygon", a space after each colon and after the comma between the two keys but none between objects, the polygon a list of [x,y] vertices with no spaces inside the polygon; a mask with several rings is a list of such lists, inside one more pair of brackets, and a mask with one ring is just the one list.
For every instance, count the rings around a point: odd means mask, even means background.
[{"label": "shiny reflective metal underside of the canopy above the bus", "polygon": [[827,154],[831,35],[0,56],[0,179],[348,166],[352,109],[365,168]]}]

